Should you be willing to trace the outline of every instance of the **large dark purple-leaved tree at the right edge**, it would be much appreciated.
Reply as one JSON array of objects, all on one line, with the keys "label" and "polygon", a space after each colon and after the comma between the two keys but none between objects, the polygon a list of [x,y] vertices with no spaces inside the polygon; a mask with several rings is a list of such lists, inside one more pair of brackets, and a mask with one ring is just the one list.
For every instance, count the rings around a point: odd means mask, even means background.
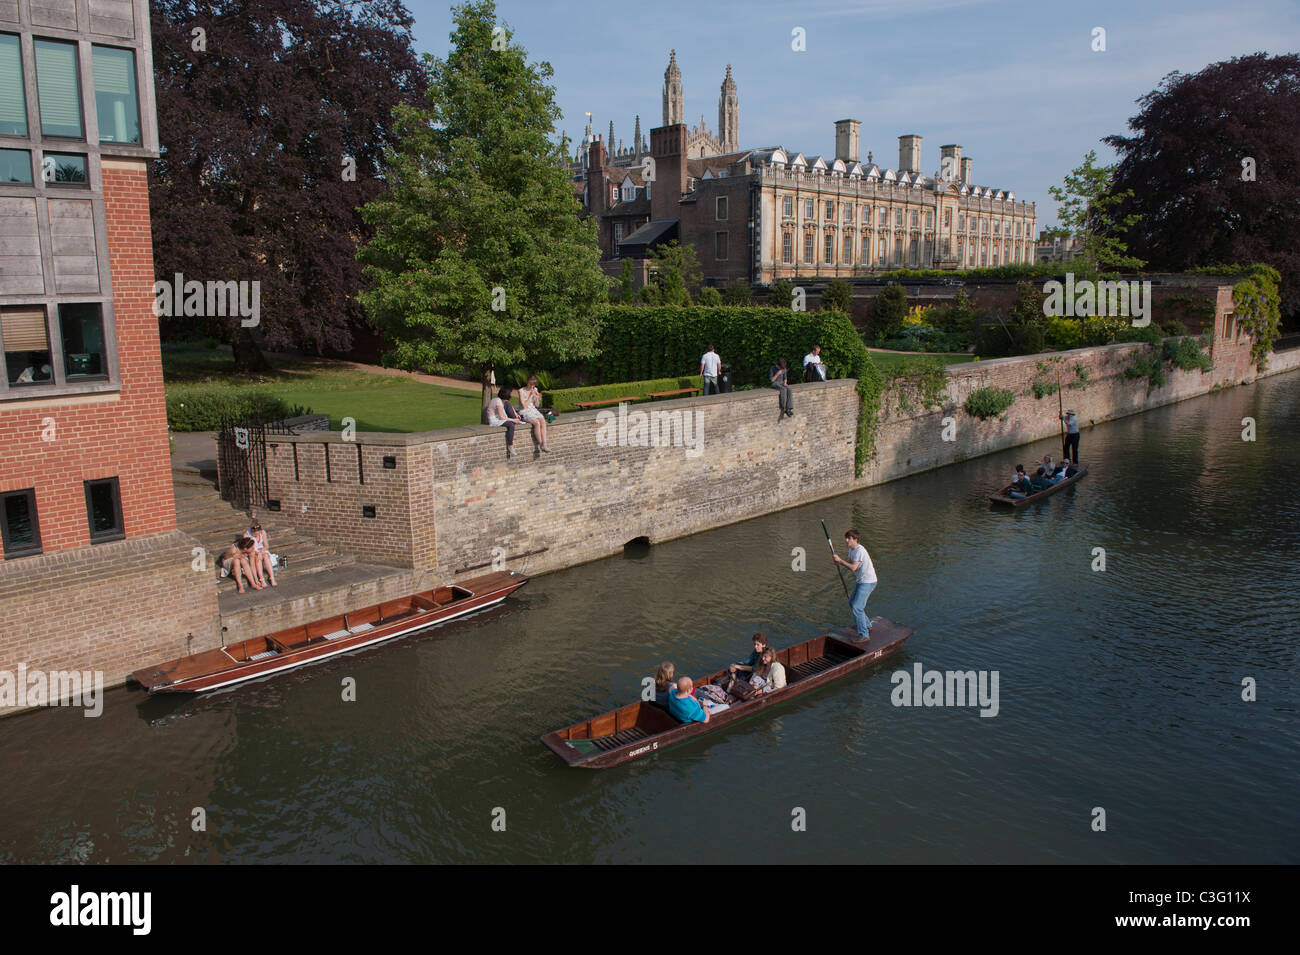
[{"label": "large dark purple-leaved tree at the right edge", "polygon": [[[1262,262],[1300,312],[1300,56],[1251,56],[1170,73],[1138,100],[1114,188],[1135,255],[1161,269]],[[1249,162],[1247,161],[1249,160]]]}]

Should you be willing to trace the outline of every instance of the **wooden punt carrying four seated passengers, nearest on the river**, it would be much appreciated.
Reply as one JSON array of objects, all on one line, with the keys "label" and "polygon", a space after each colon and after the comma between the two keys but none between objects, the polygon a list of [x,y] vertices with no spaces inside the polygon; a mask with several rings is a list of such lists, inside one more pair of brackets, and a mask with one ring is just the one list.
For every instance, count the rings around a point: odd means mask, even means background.
[{"label": "wooden punt carrying four seated passengers, nearest on the river", "polygon": [[[844,629],[780,650],[776,659],[785,667],[786,686],[744,703],[733,703],[729,708],[712,713],[708,722],[677,722],[667,709],[642,702],[547,733],[542,742],[571,767],[607,769],[621,765],[712,733],[870,667],[897,652],[911,634],[910,626],[875,617],[868,643],[859,643],[854,630]],[[725,672],[723,668],[697,680],[696,685],[707,683]]]}]

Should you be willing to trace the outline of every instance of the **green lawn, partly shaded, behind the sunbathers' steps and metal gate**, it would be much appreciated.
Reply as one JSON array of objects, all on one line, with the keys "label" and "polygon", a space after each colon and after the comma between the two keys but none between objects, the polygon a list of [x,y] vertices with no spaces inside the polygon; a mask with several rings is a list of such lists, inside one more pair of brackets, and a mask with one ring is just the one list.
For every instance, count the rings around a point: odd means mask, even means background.
[{"label": "green lawn, partly shaded, behind the sunbathers' steps and metal gate", "polygon": [[478,424],[481,399],[477,391],[354,369],[272,361],[276,368],[269,372],[237,376],[229,348],[166,346],[162,348],[162,381],[164,386],[221,382],[269,391],[290,404],[329,414],[330,427],[335,430],[343,426],[344,417],[356,418],[358,431],[429,431]]}]

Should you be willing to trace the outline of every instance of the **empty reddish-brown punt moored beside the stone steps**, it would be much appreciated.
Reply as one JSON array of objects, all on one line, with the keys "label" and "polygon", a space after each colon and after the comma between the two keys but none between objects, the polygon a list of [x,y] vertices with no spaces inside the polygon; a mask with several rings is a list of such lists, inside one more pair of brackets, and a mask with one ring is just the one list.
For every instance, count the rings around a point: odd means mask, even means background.
[{"label": "empty reddish-brown punt moored beside the stone steps", "polygon": [[130,678],[151,694],[218,690],[495,607],[525,583],[528,578],[514,570],[484,574],[450,587],[385,600],[266,637],[144,667]]}]

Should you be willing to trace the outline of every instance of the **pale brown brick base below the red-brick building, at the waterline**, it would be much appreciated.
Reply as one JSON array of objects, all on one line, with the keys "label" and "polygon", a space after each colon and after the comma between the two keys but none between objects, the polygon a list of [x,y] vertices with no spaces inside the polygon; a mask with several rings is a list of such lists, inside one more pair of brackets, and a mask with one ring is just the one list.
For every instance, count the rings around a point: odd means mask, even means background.
[{"label": "pale brown brick base below the red-brick building, at the waterline", "polygon": [[211,565],[192,567],[196,546],[173,530],[4,565],[0,670],[101,670],[113,686],[144,664],[220,646],[217,589]]}]

